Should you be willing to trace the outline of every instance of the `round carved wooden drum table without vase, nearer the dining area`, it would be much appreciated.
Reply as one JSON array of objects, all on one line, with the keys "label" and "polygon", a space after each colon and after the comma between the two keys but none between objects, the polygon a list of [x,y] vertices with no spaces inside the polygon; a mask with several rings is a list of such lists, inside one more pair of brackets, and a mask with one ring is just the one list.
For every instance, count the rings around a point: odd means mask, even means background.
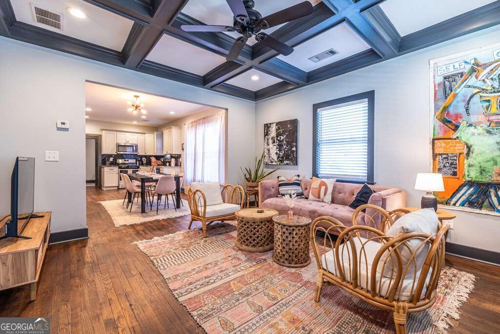
[{"label": "round carved wooden drum table without vase, nearer the dining area", "polygon": [[273,247],[272,216],[276,210],[248,208],[236,211],[236,247],[247,252],[265,252]]}]

